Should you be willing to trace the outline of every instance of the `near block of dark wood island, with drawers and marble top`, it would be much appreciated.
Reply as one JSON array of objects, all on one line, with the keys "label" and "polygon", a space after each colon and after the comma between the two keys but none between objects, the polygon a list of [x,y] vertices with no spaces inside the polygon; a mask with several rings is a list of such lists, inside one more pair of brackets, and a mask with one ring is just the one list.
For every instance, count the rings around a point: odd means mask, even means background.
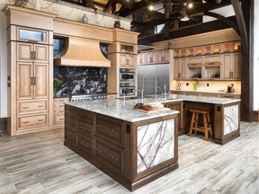
[{"label": "near block of dark wood island, with drawers and marble top", "polygon": [[132,110],[139,100],[67,102],[65,145],[128,190],[178,168],[177,110]]}]

